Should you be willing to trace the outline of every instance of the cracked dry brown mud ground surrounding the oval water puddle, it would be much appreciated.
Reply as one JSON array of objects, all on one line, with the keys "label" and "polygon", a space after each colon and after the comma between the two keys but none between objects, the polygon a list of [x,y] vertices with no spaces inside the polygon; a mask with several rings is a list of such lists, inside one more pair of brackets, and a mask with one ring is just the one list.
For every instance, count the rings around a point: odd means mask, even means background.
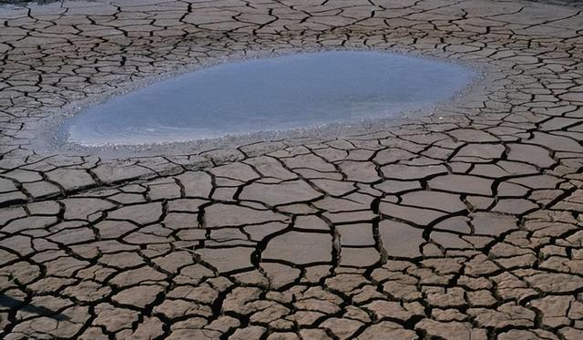
[{"label": "cracked dry brown mud ground surrounding the oval water puddle", "polygon": [[[0,7],[0,337],[582,339],[583,15],[521,1]],[[486,88],[394,129],[179,156],[35,122],[179,67],[373,48]]]}]

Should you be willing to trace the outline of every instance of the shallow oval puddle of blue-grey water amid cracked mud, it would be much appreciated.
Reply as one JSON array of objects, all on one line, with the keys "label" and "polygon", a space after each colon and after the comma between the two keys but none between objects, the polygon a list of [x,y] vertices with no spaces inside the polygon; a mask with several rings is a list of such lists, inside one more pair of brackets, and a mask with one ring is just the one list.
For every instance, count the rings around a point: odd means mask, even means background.
[{"label": "shallow oval puddle of blue-grey water amid cracked mud", "polygon": [[451,98],[474,77],[467,67],[382,52],[251,59],[110,98],[67,118],[57,139],[142,145],[399,118]]}]

